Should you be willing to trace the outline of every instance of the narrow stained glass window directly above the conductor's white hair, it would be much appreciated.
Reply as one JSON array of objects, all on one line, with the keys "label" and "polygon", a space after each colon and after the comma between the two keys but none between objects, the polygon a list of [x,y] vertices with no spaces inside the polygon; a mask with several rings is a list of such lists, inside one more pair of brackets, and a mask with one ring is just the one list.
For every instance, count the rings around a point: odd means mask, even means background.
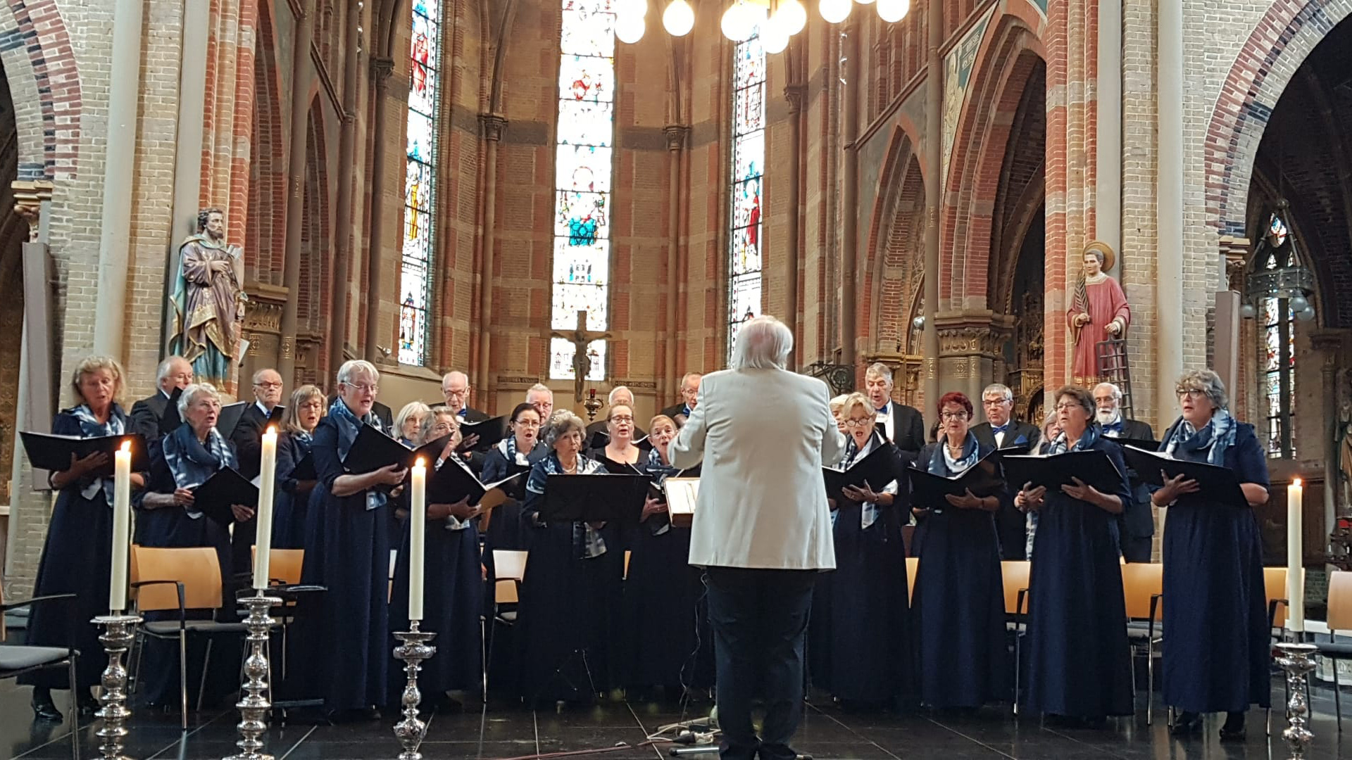
[{"label": "narrow stained glass window directly above the conductor's white hair", "polygon": [[733,54],[731,230],[727,252],[727,356],[737,329],[761,311],[761,179],[765,173],[765,50],[760,30]]}]

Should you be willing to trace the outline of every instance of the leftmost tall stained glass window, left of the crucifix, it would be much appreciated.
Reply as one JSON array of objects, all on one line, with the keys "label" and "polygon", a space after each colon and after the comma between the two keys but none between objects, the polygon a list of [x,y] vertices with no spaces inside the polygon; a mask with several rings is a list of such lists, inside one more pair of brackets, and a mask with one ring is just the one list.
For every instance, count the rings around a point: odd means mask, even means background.
[{"label": "leftmost tall stained glass window, left of the crucifix", "polygon": [[399,362],[427,364],[431,246],[435,234],[437,100],[441,84],[441,0],[414,0],[408,61],[403,269],[399,276]]}]

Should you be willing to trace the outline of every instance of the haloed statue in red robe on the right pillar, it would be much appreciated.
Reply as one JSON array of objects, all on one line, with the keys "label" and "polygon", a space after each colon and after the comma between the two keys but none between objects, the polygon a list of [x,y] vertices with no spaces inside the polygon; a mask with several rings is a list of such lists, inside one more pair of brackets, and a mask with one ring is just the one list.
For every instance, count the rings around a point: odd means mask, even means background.
[{"label": "haloed statue in red robe on the right pillar", "polygon": [[1113,249],[1092,242],[1084,247],[1084,270],[1075,284],[1065,322],[1075,343],[1071,372],[1075,383],[1092,385],[1099,377],[1096,345],[1099,341],[1121,338],[1132,323],[1132,308],[1126,303],[1122,285],[1103,269],[1113,265]]}]

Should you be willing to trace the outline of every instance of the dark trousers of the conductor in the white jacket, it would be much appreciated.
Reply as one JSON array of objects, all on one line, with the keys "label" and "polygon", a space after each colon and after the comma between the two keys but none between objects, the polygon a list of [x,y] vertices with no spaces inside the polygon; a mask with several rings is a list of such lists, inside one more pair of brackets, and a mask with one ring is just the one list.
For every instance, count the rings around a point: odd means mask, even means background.
[{"label": "dark trousers of the conductor in the white jacket", "polygon": [[[729,760],[792,760],[788,742],[803,718],[803,641],[815,571],[711,567],[708,618],[714,629],[719,755]],[[761,736],[752,699],[765,700]]]}]

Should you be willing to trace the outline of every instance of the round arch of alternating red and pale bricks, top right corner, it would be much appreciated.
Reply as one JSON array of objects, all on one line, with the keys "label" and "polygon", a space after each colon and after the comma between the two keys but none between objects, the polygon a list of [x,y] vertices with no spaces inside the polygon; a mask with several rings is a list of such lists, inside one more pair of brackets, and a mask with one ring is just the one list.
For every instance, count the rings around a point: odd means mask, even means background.
[{"label": "round arch of alternating red and pale bricks, top right corner", "polygon": [[1253,162],[1272,110],[1305,58],[1348,15],[1352,0],[1274,3],[1240,47],[1203,149],[1207,219],[1220,234],[1245,235]]}]

